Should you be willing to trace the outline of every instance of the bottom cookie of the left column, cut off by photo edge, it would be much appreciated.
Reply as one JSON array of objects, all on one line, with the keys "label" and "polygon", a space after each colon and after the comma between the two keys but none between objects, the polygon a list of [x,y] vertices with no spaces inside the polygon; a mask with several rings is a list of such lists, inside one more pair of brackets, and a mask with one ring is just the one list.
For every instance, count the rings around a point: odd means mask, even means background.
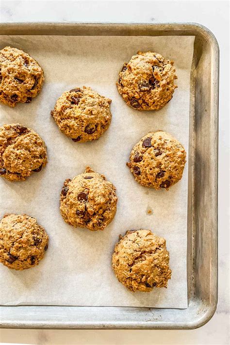
[{"label": "bottom cookie of the left column, cut off by photo edge", "polygon": [[26,214],[5,214],[0,221],[0,262],[23,270],[36,266],[48,248],[49,236]]}]

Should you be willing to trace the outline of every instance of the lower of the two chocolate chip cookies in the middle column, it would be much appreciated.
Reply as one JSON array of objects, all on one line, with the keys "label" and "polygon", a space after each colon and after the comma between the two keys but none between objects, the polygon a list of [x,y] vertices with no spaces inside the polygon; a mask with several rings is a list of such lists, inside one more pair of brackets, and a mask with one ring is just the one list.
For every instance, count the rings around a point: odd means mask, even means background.
[{"label": "lower of the two chocolate chip cookies in the middle column", "polygon": [[60,211],[66,223],[89,230],[104,230],[116,213],[113,183],[86,167],[83,174],[67,179],[61,191]]}]

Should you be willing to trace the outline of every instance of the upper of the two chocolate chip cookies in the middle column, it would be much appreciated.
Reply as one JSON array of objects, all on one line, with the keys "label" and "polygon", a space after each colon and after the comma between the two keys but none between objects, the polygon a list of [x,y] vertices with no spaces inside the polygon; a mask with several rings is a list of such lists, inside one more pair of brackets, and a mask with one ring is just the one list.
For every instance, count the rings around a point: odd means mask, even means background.
[{"label": "upper of the two chocolate chip cookies in the middle column", "polygon": [[51,115],[59,129],[74,142],[96,140],[110,125],[110,103],[111,99],[90,87],[77,87],[64,92]]}]

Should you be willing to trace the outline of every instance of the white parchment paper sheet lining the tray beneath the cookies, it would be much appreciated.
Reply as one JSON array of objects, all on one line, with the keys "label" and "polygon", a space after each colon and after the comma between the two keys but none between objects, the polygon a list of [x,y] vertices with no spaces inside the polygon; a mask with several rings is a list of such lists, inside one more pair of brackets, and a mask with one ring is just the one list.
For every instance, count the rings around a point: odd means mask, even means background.
[{"label": "white parchment paper sheet lining the tray beneath the cookies", "polygon": [[[130,306],[187,308],[187,165],[182,180],[169,191],[139,185],[126,162],[134,144],[148,131],[164,130],[188,152],[189,82],[194,37],[1,36],[28,51],[45,71],[40,95],[15,109],[0,105],[0,125],[20,122],[45,140],[49,163],[24,182],[0,179],[0,216],[26,213],[49,234],[49,249],[38,266],[14,271],[0,265],[0,304]],[[138,50],[153,50],[175,61],[178,88],[158,112],[138,112],[119,96],[115,81],[124,62]],[[76,86],[91,86],[112,99],[112,123],[91,143],[74,143],[49,115],[56,99]],[[104,174],[117,188],[117,214],[104,231],[67,225],[59,212],[59,193],[66,178],[86,165]],[[148,213],[148,211],[151,213]],[[150,229],[164,236],[172,278],[167,289],[131,293],[117,281],[111,256],[118,235]]]}]

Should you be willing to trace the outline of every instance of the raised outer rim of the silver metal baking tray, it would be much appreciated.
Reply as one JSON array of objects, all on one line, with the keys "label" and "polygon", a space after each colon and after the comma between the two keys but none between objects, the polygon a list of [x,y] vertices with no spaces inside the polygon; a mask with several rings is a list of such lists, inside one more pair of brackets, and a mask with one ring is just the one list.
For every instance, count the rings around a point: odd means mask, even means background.
[{"label": "raised outer rim of the silver metal baking tray", "polygon": [[[130,28],[135,27],[136,29],[149,27],[149,28],[156,28],[156,31],[158,31],[159,34],[162,33],[164,35],[165,31],[167,32],[167,35],[194,35],[194,36],[202,36],[207,40],[207,43],[209,43],[212,46],[212,52],[214,54],[214,59],[212,59],[212,86],[214,89],[214,95],[216,96],[215,99],[212,102],[213,106],[213,112],[214,112],[214,135],[215,135],[215,142],[212,146],[212,153],[214,155],[215,159],[215,169],[214,169],[214,187],[213,187],[213,196],[214,196],[214,229],[213,234],[215,235],[215,241],[213,243],[213,253],[214,253],[214,270],[212,271],[212,277],[211,277],[211,283],[213,286],[213,296],[210,296],[210,304],[207,306],[205,312],[202,314],[201,317],[197,317],[193,322],[189,322],[186,324],[168,324],[168,327],[165,326],[164,322],[157,322],[157,324],[152,321],[151,323],[148,323],[148,325],[144,324],[141,325],[140,322],[131,322],[129,325],[127,323],[121,322],[121,323],[113,323],[113,324],[101,324],[101,323],[94,323],[90,324],[90,322],[79,322],[76,321],[74,324],[65,323],[65,324],[55,324],[55,321],[52,322],[39,322],[37,321],[36,324],[32,324],[32,322],[28,321],[19,321],[14,320],[12,321],[12,316],[10,314],[8,315],[10,318],[0,320],[0,327],[1,328],[46,328],[46,329],[195,329],[198,327],[203,326],[206,324],[214,315],[214,312],[216,310],[217,306],[217,272],[218,272],[218,263],[217,263],[217,173],[218,173],[218,81],[219,81],[219,46],[218,42],[214,36],[214,34],[205,26],[193,23],[193,22],[129,22],[129,23],[122,23],[122,22],[75,22],[75,21],[68,21],[68,22],[1,22],[0,23],[0,35],[4,35],[4,33],[1,33],[2,31],[10,31],[10,30],[34,30],[37,29],[37,27],[43,27],[44,29],[52,30],[54,27],[57,28],[59,31],[63,29],[78,27],[78,29],[83,29],[84,26],[91,27],[92,29],[94,27],[102,27],[107,28],[110,26],[112,27],[118,27],[120,29],[122,28]],[[21,29],[19,28],[21,27]],[[176,30],[177,27],[177,30]],[[108,28],[109,29],[109,28]],[[187,31],[187,33],[180,34],[180,31]],[[26,35],[25,33],[13,33],[10,35]],[[47,35],[45,33],[38,33],[39,35]],[[9,33],[8,33],[9,35]],[[30,34],[31,35],[31,34]],[[32,33],[33,35],[33,33]],[[50,34],[49,35],[54,35]],[[58,35],[55,34],[55,35]],[[59,35],[73,35],[73,34],[60,34]],[[75,34],[76,35],[76,34]],[[85,34],[86,36],[89,34]],[[94,34],[95,36],[102,35],[102,34]],[[114,35],[114,34],[112,34]],[[116,34],[120,35],[120,34]],[[123,35],[131,35],[131,34],[123,34]],[[143,35],[143,34],[140,34]],[[154,34],[150,34],[154,35]],[[157,34],[156,34],[157,35]],[[215,81],[215,82],[214,82]],[[40,308],[43,306],[26,306],[26,308]],[[23,308],[23,306],[0,306],[0,316],[2,316],[3,309],[12,310],[12,309],[20,309]],[[65,306],[47,306],[47,308],[65,308]],[[121,308],[121,307],[78,307],[73,306],[71,308]],[[133,307],[123,307],[126,309],[130,309]],[[134,308],[133,308],[134,309]],[[137,308],[137,309],[154,309],[155,308]],[[188,306],[189,309],[189,306]],[[163,309],[160,309],[163,310]],[[167,309],[170,310],[170,309]],[[2,317],[1,317],[2,318]],[[4,318],[4,315],[3,315]]]}]

